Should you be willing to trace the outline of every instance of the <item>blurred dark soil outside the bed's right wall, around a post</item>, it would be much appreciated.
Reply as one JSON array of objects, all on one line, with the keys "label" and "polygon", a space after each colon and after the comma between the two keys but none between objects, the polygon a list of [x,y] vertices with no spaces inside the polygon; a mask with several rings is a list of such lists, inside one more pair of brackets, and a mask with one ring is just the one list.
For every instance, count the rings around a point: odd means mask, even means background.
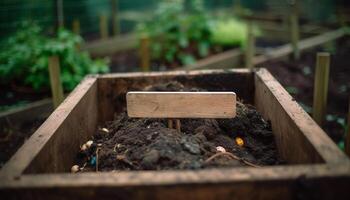
[{"label": "blurred dark soil outside the bed's right wall, around a post", "polygon": [[298,61],[271,61],[260,66],[267,68],[311,114],[316,53],[331,52],[327,117],[322,128],[336,143],[342,143],[345,137],[344,122],[350,96],[349,47],[350,37],[345,37],[338,40],[333,47],[319,47],[303,53]]}]

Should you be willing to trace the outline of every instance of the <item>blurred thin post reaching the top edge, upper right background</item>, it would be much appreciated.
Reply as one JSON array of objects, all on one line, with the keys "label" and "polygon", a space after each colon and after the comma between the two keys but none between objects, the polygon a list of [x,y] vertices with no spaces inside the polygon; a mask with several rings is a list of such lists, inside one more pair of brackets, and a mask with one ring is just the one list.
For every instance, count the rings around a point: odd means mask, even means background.
[{"label": "blurred thin post reaching the top edge, upper right background", "polygon": [[291,42],[293,48],[293,58],[295,60],[300,58],[300,51],[298,47],[299,42],[299,17],[298,17],[298,5],[297,0],[291,5],[290,14],[290,27],[291,27]]}]

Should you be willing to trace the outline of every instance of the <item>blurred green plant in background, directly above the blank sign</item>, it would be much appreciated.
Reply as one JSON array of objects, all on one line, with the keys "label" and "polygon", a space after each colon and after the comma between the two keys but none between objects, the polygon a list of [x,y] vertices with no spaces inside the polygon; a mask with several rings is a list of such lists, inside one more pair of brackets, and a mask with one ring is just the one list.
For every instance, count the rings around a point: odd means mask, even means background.
[{"label": "blurred green plant in background, directly above the blank sign", "polygon": [[210,49],[210,20],[202,1],[161,2],[154,18],[138,26],[140,35],[151,40],[151,57],[165,63],[191,64]]}]

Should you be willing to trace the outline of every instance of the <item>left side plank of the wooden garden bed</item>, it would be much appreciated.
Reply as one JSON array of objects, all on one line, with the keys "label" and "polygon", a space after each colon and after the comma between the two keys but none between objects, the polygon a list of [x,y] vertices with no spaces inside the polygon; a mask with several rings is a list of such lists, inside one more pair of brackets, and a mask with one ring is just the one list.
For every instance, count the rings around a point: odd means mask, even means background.
[{"label": "left side plank of the wooden garden bed", "polygon": [[[97,81],[88,77],[5,164],[1,174],[62,172],[97,128]],[[67,156],[69,155],[69,156]]]}]

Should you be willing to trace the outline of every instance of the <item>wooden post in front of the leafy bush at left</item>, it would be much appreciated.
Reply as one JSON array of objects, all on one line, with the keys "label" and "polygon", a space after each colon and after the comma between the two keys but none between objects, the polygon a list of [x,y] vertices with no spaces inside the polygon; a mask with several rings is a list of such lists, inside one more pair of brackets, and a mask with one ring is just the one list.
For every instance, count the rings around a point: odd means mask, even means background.
[{"label": "wooden post in front of the leafy bush at left", "polygon": [[64,100],[63,87],[60,77],[60,63],[57,56],[49,58],[49,75],[54,108],[57,108]]}]

